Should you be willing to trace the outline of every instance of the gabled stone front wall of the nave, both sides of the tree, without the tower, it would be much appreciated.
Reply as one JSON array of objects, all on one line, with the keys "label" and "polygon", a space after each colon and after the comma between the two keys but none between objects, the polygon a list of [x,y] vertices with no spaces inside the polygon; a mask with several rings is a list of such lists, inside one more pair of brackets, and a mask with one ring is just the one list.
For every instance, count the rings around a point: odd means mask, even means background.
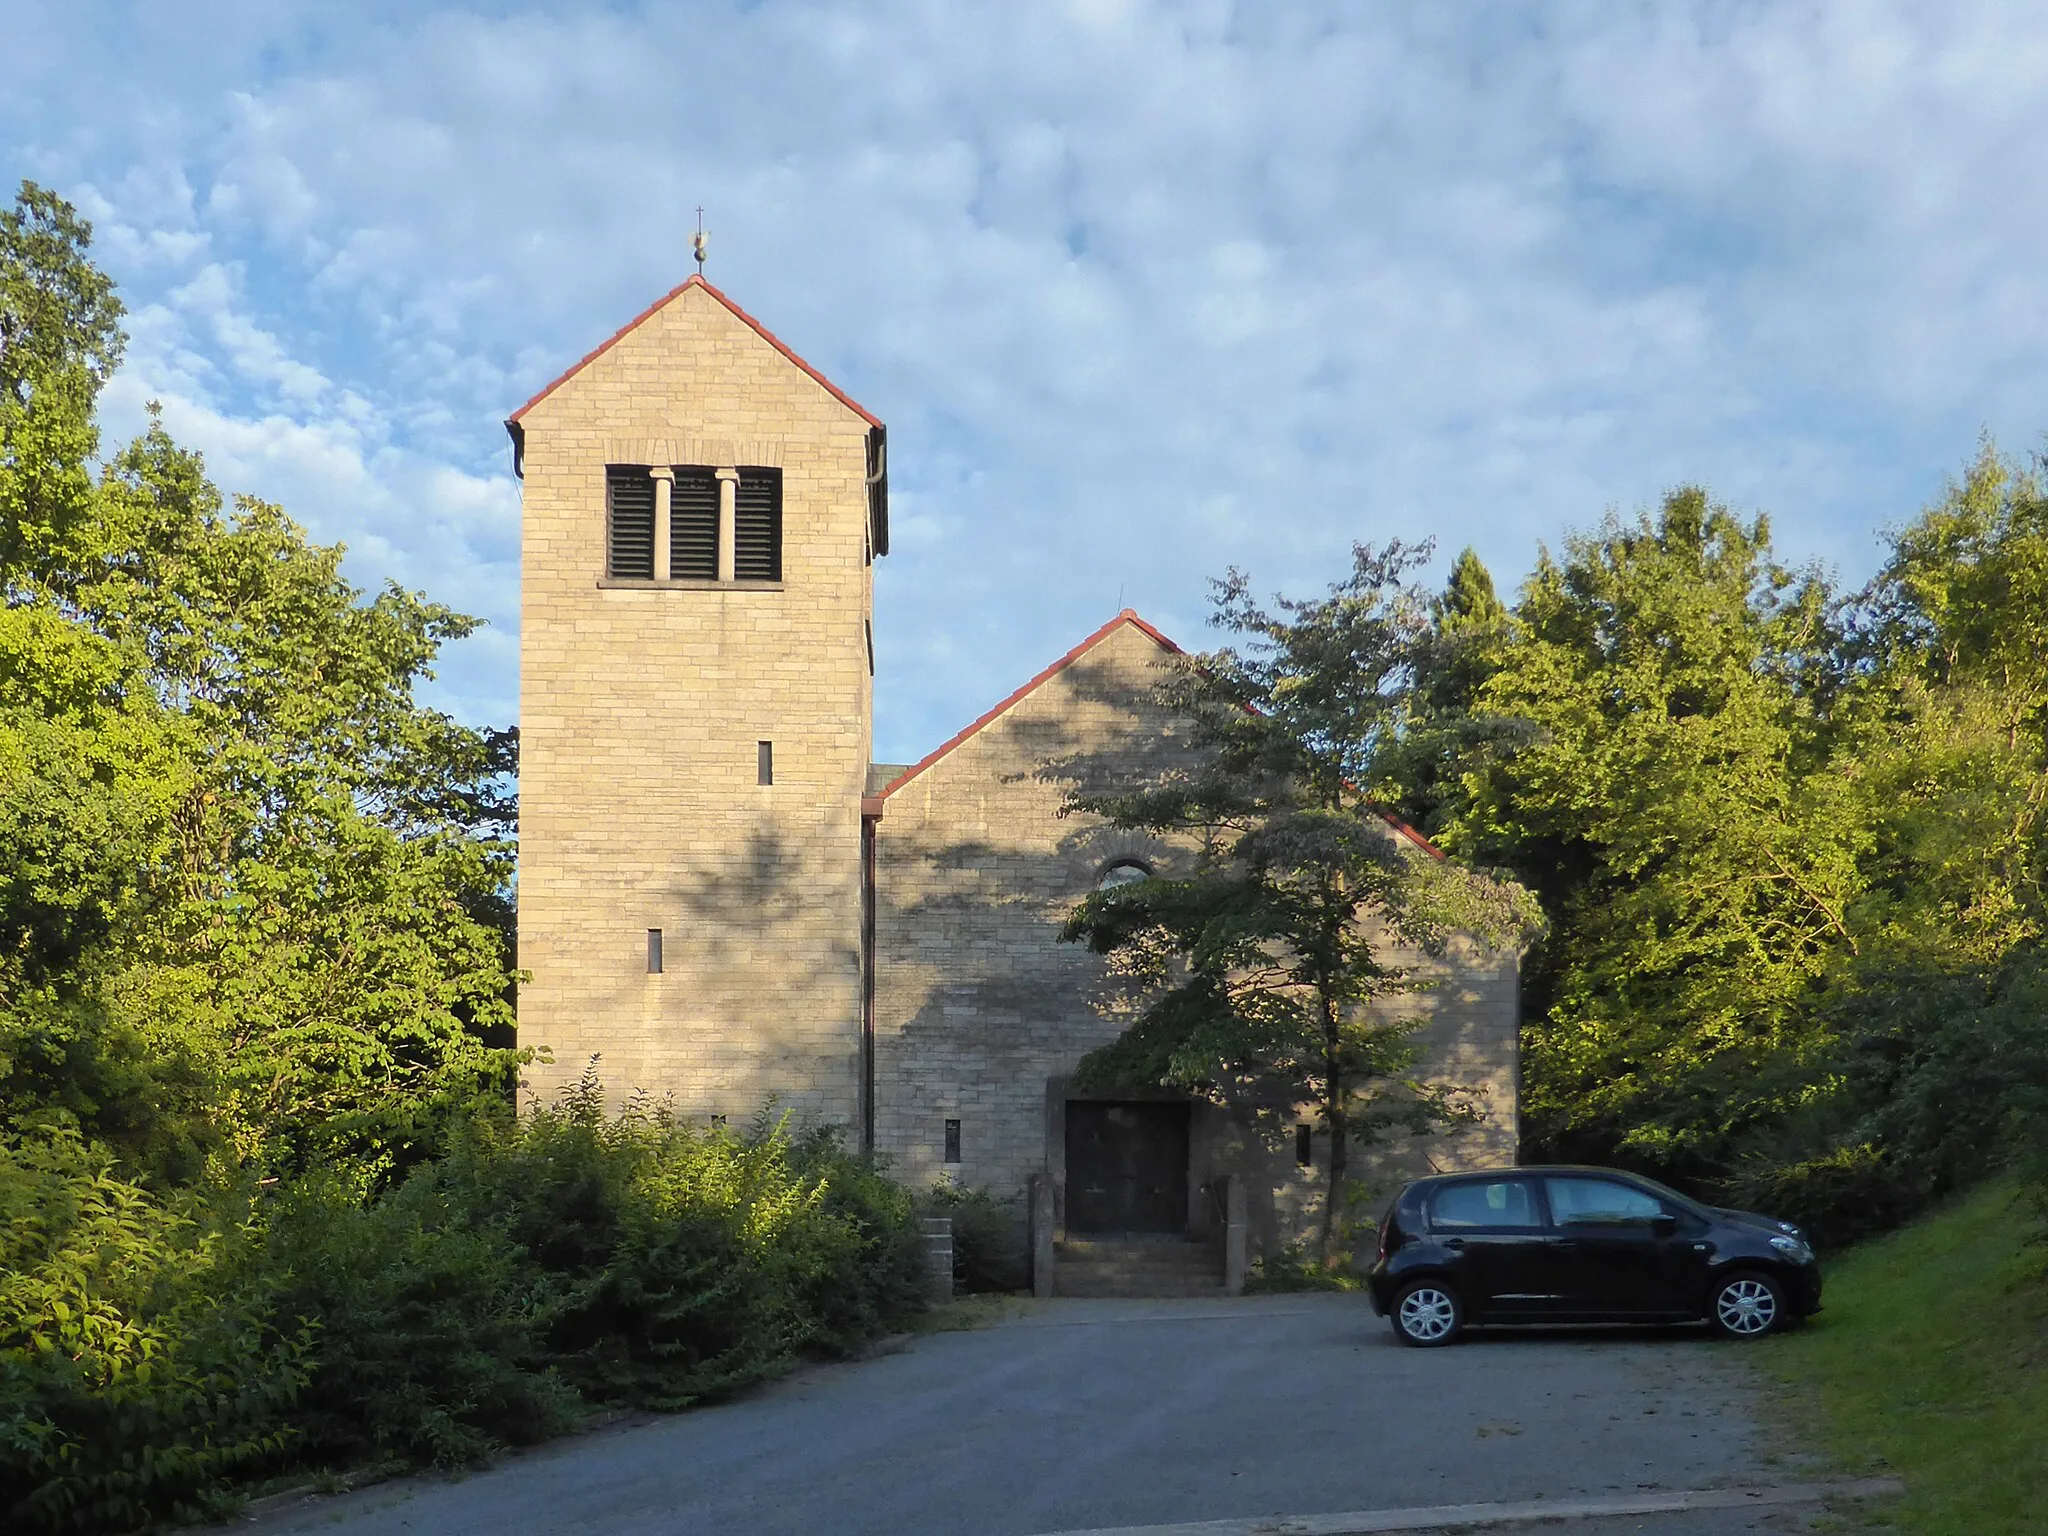
[{"label": "gabled stone front wall of the nave, both sides of the tree, without the tower", "polygon": [[[1087,817],[1057,815],[1073,774],[1137,778],[1184,750],[1151,700],[1163,649],[1135,623],[1112,629],[1004,715],[901,782],[877,829],[877,1143],[913,1184],[950,1176],[999,1194],[1034,1169],[1063,1174],[1059,1090],[1122,1028],[1104,963],[1057,940],[1073,903],[1120,858],[1171,868],[1176,852]],[[1389,834],[1393,836],[1393,834]],[[1354,1171],[1393,1186],[1432,1167],[1511,1163],[1516,1133],[1516,956],[1458,938],[1442,956],[1403,952],[1438,985],[1389,1010],[1425,1020],[1417,1071],[1475,1085],[1487,1120],[1454,1137],[1399,1133],[1354,1147]],[[944,1120],[963,1122],[961,1161],[944,1165]],[[1245,1174],[1255,1251],[1303,1233],[1319,1212],[1327,1137],[1294,1163],[1292,1106],[1196,1108],[1190,1227],[1202,1186]]]}]

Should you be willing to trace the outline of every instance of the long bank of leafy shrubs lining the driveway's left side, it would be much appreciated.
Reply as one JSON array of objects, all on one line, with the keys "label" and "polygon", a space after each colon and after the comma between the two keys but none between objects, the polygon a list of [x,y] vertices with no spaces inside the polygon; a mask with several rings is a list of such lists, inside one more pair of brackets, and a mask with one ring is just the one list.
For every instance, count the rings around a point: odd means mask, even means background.
[{"label": "long bank of leafy shrubs lining the driveway's left side", "polygon": [[174,1210],[76,1135],[0,1141],[0,1518],[133,1530],[285,1464],[465,1464],[586,1403],[705,1401],[891,1327],[922,1264],[909,1192],[834,1133],[606,1116],[594,1075],[381,1194]]}]

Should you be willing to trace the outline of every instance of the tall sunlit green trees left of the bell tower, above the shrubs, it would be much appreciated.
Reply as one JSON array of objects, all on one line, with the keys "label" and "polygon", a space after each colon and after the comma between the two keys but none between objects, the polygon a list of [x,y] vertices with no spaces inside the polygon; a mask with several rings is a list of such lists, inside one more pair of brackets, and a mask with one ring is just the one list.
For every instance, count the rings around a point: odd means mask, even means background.
[{"label": "tall sunlit green trees left of the bell tower, above the shrubs", "polygon": [[473,621],[156,420],[90,475],[119,305],[61,201],[0,233],[0,1120],[172,1178],[432,1145],[510,1065],[516,741],[416,696]]}]

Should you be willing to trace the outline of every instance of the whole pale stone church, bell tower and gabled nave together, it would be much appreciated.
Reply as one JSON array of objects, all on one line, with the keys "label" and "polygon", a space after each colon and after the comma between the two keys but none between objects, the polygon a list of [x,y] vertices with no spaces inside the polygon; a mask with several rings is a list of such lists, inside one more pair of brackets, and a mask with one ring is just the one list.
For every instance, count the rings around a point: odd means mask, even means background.
[{"label": "whole pale stone church, bell tower and gabled nave together", "polygon": [[[698,1122],[774,1098],[915,1188],[1028,1196],[1040,1284],[1055,1237],[1073,1264],[1083,1239],[1194,1239],[1235,1284],[1303,1235],[1329,1147],[1298,1106],[1069,1081],[1122,1024],[1061,922],[1176,850],[1059,807],[1077,774],[1180,750],[1153,700],[1174,641],[1124,610],[924,760],[877,764],[881,420],[692,276],[506,428],[520,1042],[549,1055],[524,1100],[594,1057],[614,1102]],[[1356,1149],[1354,1176],[1513,1161],[1516,954],[1399,958],[1434,981],[1389,1004],[1421,1018],[1417,1071],[1475,1087],[1485,1118]]]}]

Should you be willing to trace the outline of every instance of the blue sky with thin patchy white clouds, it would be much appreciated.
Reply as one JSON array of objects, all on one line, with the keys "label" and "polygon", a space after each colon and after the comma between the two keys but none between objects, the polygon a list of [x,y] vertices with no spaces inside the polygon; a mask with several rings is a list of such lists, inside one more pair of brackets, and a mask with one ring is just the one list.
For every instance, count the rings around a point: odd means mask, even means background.
[{"label": "blue sky with thin patchy white clouds", "polygon": [[1354,539],[1540,541],[1681,481],[1864,580],[2048,428],[2030,4],[0,0],[0,172],[98,225],[147,399],[362,584],[489,621],[500,422],[688,270],[889,422],[877,756],[1100,625]]}]

